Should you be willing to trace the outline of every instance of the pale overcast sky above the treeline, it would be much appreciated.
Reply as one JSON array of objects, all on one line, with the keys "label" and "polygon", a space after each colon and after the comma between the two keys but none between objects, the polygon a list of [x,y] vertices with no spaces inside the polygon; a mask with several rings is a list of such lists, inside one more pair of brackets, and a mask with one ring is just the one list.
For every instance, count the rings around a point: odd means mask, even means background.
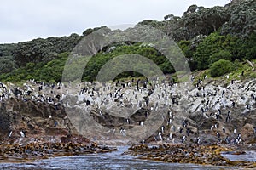
[{"label": "pale overcast sky above the treeline", "polygon": [[0,6],[0,43],[37,37],[82,34],[96,26],[137,24],[181,16],[192,4],[224,6],[229,0],[4,0]]}]

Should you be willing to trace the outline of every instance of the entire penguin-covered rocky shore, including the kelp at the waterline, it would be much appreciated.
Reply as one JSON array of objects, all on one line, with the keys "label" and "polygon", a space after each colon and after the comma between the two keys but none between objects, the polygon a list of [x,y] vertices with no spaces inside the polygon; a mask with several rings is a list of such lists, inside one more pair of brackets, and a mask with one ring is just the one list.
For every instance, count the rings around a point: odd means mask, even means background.
[{"label": "entire penguin-covered rocky shore, including the kelp at the waterline", "polygon": [[0,83],[1,161],[115,150],[99,144],[138,144],[126,154],[255,167],[220,155],[256,149],[255,80],[218,82],[204,76],[180,84],[154,79],[23,85]]}]

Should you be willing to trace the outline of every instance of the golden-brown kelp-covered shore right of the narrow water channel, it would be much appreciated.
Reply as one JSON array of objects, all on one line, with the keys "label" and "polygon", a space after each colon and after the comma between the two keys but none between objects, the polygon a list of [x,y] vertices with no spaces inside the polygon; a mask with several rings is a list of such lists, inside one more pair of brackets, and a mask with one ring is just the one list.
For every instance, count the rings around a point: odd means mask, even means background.
[{"label": "golden-brown kelp-covered shore right of the narrow water channel", "polygon": [[256,160],[254,162],[230,161],[221,156],[222,152],[228,151],[233,151],[234,155],[245,154],[243,151],[234,150],[236,149],[219,145],[160,144],[148,146],[147,144],[138,144],[131,146],[124,154],[150,161],[256,168]]}]

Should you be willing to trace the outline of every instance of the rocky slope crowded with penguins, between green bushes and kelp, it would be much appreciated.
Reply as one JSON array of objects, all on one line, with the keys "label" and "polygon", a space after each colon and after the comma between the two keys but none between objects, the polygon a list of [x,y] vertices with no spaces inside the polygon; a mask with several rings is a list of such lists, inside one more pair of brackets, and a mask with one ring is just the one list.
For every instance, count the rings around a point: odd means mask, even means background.
[{"label": "rocky slope crowded with penguins, between green bushes and kelp", "polygon": [[[192,82],[171,84],[157,79],[68,83],[59,88],[44,85],[31,94],[44,95],[44,100],[24,101],[10,95],[1,103],[1,135],[6,139],[13,130],[17,138],[23,130],[27,136],[82,134],[102,144],[115,140],[196,143],[200,139],[201,144],[255,147],[255,80],[195,82],[196,87]],[[42,84],[27,86],[37,89]],[[49,102],[48,96],[59,101]]]}]

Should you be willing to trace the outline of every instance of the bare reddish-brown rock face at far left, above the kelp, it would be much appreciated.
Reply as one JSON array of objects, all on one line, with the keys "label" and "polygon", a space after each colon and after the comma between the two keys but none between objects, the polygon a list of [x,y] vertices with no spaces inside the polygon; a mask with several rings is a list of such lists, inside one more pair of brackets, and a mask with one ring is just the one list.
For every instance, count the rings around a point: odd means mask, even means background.
[{"label": "bare reddish-brown rock face at far left, above the kelp", "polygon": [[[64,108],[59,105],[23,101],[10,98],[0,103],[0,136],[2,140],[15,142],[24,132],[28,138],[63,136],[69,132],[77,134],[67,119]],[[9,133],[12,135],[9,137]]]}]

